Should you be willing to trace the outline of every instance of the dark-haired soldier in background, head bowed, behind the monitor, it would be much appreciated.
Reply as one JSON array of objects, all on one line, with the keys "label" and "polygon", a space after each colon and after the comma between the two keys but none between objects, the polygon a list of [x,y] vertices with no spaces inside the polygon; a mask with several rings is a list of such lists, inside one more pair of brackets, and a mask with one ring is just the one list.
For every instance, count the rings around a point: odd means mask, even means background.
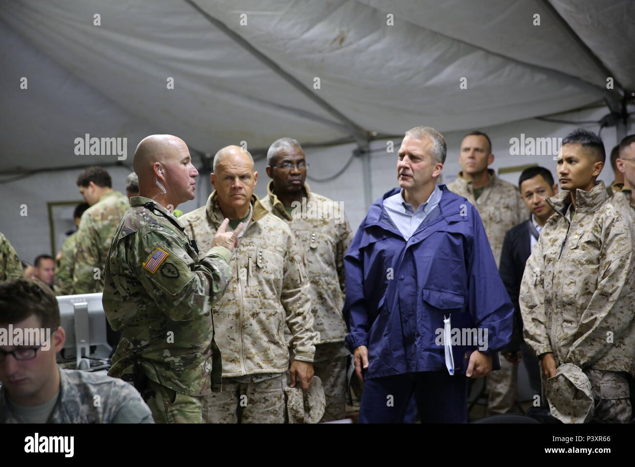
[{"label": "dark-haired soldier in background, head bowed, behind the monitor", "polygon": [[77,186],[90,208],[82,215],[77,229],[72,294],[93,294],[104,290],[108,248],[130,203],[126,196],[112,189],[110,175],[101,167],[89,167],[80,173]]}]

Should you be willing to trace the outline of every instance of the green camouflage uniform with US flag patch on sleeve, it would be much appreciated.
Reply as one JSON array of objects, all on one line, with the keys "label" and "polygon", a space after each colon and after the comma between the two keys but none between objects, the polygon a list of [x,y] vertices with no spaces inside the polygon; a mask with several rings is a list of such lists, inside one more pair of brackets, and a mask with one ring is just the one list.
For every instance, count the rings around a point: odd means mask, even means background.
[{"label": "green camouflage uniform with US flag patch on sleeve", "polygon": [[133,372],[137,349],[157,423],[201,422],[204,396],[220,389],[211,306],[230,280],[231,252],[199,255],[182,224],[149,198],[131,198],[105,265],[104,311],[123,330],[109,375]]}]

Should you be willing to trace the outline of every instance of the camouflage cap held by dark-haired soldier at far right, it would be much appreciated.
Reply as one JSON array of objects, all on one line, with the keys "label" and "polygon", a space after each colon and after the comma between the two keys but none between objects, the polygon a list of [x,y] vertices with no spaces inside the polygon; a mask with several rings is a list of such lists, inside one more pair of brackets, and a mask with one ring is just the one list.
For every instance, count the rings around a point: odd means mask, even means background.
[{"label": "camouflage cap held by dark-haired soldier at far right", "polygon": [[594,412],[591,381],[573,363],[560,365],[547,379],[545,391],[551,415],[563,423],[587,423]]}]

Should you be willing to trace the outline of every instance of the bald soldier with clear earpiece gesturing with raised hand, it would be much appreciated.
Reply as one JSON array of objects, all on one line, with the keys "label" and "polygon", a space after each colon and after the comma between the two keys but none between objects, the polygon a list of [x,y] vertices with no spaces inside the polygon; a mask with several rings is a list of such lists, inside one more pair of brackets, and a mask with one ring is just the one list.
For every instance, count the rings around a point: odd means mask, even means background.
[{"label": "bald soldier with clear earpiece gesturing with raised hand", "polygon": [[211,306],[230,279],[238,226],[228,219],[199,257],[171,210],[194,199],[198,172],[185,142],[151,135],[135,151],[131,198],[105,266],[104,311],[123,334],[110,376],[131,381],[156,423],[203,423],[204,399],[220,389]]}]

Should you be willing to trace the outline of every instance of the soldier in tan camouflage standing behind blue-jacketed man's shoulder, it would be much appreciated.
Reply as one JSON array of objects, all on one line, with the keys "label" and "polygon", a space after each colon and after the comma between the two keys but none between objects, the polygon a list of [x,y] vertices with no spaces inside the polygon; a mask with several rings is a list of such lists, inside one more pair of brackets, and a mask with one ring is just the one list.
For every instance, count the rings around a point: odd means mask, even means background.
[{"label": "soldier in tan camouflage standing behind blue-jacketed man's shoulder", "polygon": [[[500,252],[505,234],[512,227],[527,220],[530,212],[520,197],[518,188],[499,179],[487,166],[493,163],[490,138],[481,132],[465,135],[458,161],[463,170],[448,189],[464,196],[481,215],[483,227],[490,242],[496,266],[500,265]],[[502,355],[502,354],[501,354]],[[511,409],[516,398],[518,362],[509,356],[500,358],[500,371],[487,376],[489,392],[487,414],[504,414]]]}]

